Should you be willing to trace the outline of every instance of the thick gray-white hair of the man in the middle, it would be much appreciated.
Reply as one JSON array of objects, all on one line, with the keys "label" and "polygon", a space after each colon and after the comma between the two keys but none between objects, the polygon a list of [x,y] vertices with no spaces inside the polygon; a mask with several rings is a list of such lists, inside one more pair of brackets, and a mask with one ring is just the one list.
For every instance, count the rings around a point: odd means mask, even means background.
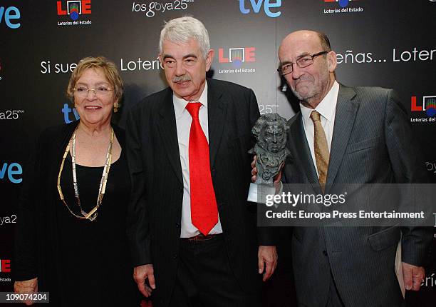
[{"label": "thick gray-white hair of the man in the middle", "polygon": [[159,52],[162,54],[162,45],[165,40],[187,44],[190,39],[195,39],[198,42],[200,51],[206,59],[210,50],[209,34],[207,34],[207,29],[202,21],[189,16],[171,19],[165,23],[160,31]]}]

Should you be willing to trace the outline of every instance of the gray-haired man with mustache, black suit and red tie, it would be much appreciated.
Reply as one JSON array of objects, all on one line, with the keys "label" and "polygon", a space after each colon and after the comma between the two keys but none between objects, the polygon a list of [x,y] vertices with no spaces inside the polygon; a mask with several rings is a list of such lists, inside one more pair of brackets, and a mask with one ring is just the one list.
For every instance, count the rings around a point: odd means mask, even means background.
[{"label": "gray-haired man with mustache, black suit and red tie", "polygon": [[200,21],[167,22],[169,87],[128,116],[128,236],[135,281],[155,307],[259,306],[262,276],[276,267],[274,238],[246,201],[256,97],[207,79],[213,57]]}]

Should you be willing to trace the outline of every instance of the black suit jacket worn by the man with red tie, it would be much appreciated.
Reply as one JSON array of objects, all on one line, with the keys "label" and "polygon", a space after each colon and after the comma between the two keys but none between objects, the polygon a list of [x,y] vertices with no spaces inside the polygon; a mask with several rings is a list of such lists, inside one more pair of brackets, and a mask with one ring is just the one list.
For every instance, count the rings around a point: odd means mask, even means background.
[{"label": "black suit jacket worn by the man with red tie", "polygon": [[[237,281],[244,291],[256,293],[257,247],[271,245],[269,237],[257,231],[255,206],[246,201],[251,177],[247,152],[253,146],[251,127],[259,108],[251,89],[213,79],[207,79],[207,85],[210,171],[224,242]],[[153,264],[154,301],[165,306],[176,278],[183,196],[170,88],[130,111],[126,140],[133,186],[128,221],[133,265]]]}]

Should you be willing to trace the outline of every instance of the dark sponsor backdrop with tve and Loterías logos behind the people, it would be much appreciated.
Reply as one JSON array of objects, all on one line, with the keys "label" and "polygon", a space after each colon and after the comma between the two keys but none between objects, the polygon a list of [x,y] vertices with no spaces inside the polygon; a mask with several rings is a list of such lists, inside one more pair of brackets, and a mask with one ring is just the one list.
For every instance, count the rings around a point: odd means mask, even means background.
[{"label": "dark sponsor backdrop with tve and Loter\u00edas logos behind the people", "polygon": [[[209,75],[253,89],[261,113],[286,119],[298,104],[276,71],[281,40],[298,29],[325,32],[338,54],[338,81],[398,91],[436,182],[435,0],[2,0],[0,291],[12,288],[17,199],[30,149],[47,126],[78,119],[66,98],[76,63],[103,55],[118,65],[125,89],[115,120],[125,126],[133,105],[167,86],[157,59],[160,29],[184,15],[209,30],[215,50]],[[435,258],[429,253],[410,306],[435,306]]]}]

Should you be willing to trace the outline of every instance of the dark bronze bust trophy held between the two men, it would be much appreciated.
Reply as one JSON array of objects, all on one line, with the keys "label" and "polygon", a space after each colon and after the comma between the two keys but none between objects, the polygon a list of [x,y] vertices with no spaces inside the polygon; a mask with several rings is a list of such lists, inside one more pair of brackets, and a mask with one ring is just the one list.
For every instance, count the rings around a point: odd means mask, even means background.
[{"label": "dark bronze bust trophy held between the two men", "polygon": [[280,171],[290,152],[286,148],[286,132],[289,126],[279,114],[264,114],[256,121],[252,134],[256,137],[254,148],[249,154],[256,154],[256,183],[272,186],[274,176]]}]

